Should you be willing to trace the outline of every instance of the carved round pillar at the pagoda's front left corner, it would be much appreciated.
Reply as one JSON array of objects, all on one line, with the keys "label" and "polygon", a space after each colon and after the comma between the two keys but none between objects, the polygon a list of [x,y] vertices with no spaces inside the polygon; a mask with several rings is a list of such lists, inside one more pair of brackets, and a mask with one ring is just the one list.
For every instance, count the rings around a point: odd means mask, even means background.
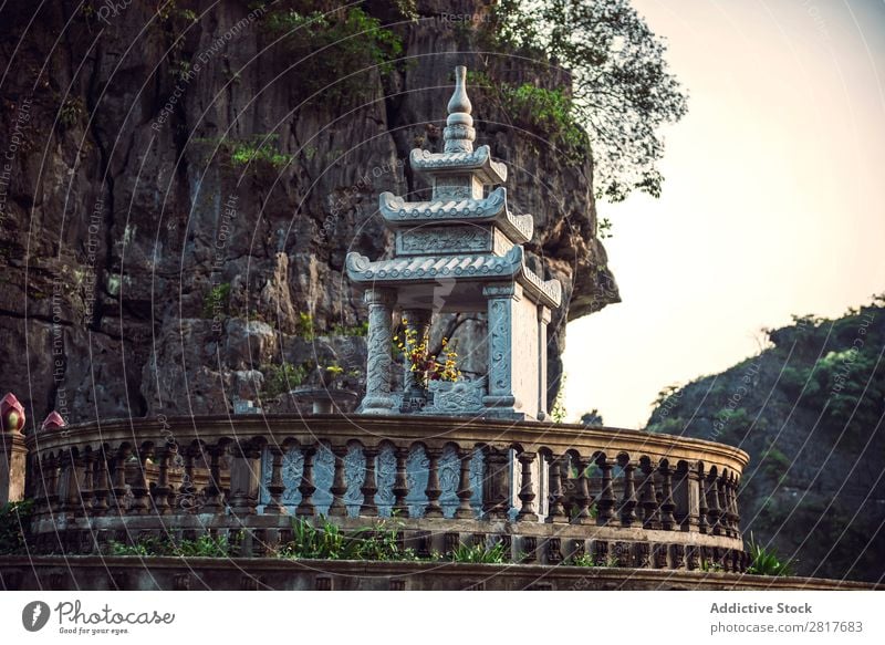
[{"label": "carved round pillar at the pagoda's front left corner", "polygon": [[392,289],[369,289],[365,293],[368,304],[368,361],[366,363],[366,396],[364,414],[389,414],[391,397],[391,324],[396,292]]}]

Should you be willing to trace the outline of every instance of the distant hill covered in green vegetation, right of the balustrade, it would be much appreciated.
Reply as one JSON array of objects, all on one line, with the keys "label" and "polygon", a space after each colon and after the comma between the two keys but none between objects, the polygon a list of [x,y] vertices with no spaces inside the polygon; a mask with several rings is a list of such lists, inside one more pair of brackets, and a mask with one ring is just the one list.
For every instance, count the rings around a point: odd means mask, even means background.
[{"label": "distant hill covered in green vegetation, right of the balustrade", "polygon": [[646,429],[750,454],[741,526],[803,575],[885,575],[885,298],[794,316],[773,346],[660,393]]}]

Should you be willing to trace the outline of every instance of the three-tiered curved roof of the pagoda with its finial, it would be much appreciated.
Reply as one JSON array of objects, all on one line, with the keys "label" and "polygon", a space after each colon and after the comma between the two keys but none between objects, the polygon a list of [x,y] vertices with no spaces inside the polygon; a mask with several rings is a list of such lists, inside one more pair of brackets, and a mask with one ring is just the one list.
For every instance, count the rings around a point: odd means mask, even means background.
[{"label": "three-tiered curved roof of the pagoda with its finial", "polygon": [[[428,201],[408,201],[384,193],[379,210],[396,233],[394,257],[371,261],[347,254],[347,274],[356,283],[399,290],[445,277],[456,281],[517,281],[532,300],[549,308],[562,302],[558,280],[543,280],[525,266],[521,245],[532,238],[531,215],[514,215],[507,205],[507,166],[491,158],[489,146],[473,149],[476,131],[465,90],[466,69],[456,70],[442,153],[414,149],[412,169],[433,186]],[[469,289],[467,293],[472,293]],[[457,301],[452,290],[450,299]],[[468,295],[468,298],[472,298]],[[406,298],[400,300],[407,300]]]}]

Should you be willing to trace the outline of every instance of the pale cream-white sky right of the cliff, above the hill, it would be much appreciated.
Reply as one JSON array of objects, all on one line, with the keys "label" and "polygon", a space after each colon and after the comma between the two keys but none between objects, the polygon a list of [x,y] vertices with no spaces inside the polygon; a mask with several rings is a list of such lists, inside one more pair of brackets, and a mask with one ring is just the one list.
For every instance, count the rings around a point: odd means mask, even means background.
[{"label": "pale cream-white sky right of the cliff, above the hill", "polygon": [[642,427],[761,327],[885,291],[885,2],[634,0],[688,115],[660,199],[600,202],[621,304],[569,325],[565,405]]}]

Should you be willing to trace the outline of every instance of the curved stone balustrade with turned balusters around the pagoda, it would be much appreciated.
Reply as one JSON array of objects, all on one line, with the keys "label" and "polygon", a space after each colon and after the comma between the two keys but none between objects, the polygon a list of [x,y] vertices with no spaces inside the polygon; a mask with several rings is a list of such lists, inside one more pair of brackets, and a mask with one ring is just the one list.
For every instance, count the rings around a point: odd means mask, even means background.
[{"label": "curved stone balustrade with turned balusters around the pagoda", "polygon": [[25,439],[38,553],[145,537],[291,539],[396,516],[418,555],[502,543],[511,560],[746,566],[736,448],[635,430],[412,416],[236,416],[44,426]]}]

